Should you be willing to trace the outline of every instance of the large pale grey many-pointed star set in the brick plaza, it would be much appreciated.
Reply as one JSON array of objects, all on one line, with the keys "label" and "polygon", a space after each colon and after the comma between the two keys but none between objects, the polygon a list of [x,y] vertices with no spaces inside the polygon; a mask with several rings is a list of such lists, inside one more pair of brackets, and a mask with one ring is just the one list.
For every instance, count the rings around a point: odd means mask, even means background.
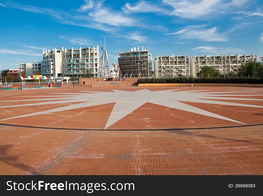
[{"label": "large pale grey many-pointed star set in the brick plaza", "polygon": [[[206,91],[206,92],[203,92]],[[223,95],[221,93],[224,93]],[[228,94],[225,94],[228,93]],[[111,114],[108,118],[107,123],[105,124],[104,129],[107,129],[109,126],[113,125],[126,115],[133,112],[135,109],[139,108],[145,103],[158,104],[165,107],[175,108],[187,112],[192,112],[196,114],[201,114],[209,117],[214,117],[222,120],[232,121],[244,125],[244,123],[233,120],[231,118],[224,117],[212,112],[208,112],[197,107],[184,104],[181,101],[186,102],[195,102],[195,103],[204,103],[204,104],[219,104],[219,105],[230,105],[230,106],[241,106],[241,107],[257,107],[263,108],[259,105],[249,105],[249,104],[240,104],[232,102],[222,102],[215,101],[216,99],[220,100],[222,97],[227,100],[257,100],[263,101],[263,99],[249,99],[249,98],[238,98],[239,96],[259,96],[259,95],[236,95],[231,94],[236,92],[207,92],[207,90],[189,90],[189,91],[178,91],[178,89],[169,89],[169,90],[160,90],[160,91],[150,91],[148,89],[141,89],[137,91],[125,91],[125,90],[113,90],[113,92],[95,92],[95,91],[79,91],[76,93],[48,93],[47,96],[33,96],[35,99],[32,99],[32,96],[22,96],[25,97],[24,100],[11,100],[11,101],[46,101],[41,103],[32,103],[32,104],[19,104],[19,105],[9,105],[1,106],[0,108],[8,107],[22,107],[22,106],[35,106],[35,105],[45,105],[45,104],[65,104],[65,103],[76,103],[64,107],[57,107],[54,109],[48,109],[40,112],[28,113],[25,115],[13,116],[10,118],[1,119],[1,121],[15,118],[22,118],[27,116],[42,115],[52,112],[60,112],[70,109],[78,109],[90,106],[97,106],[101,104],[115,103],[111,111]],[[239,92],[242,93],[242,92]],[[56,95],[52,95],[56,94]],[[57,95],[60,94],[60,95]],[[56,98],[54,98],[56,96]],[[226,96],[231,96],[234,98],[228,98]],[[21,96],[19,96],[21,97]],[[26,99],[30,97],[31,99]],[[44,98],[45,97],[45,98]],[[213,99],[213,100],[209,100]],[[51,101],[48,101],[51,100]],[[9,100],[10,101],[10,100]],[[3,102],[3,101],[0,101]],[[88,129],[88,127],[84,127]]]}]

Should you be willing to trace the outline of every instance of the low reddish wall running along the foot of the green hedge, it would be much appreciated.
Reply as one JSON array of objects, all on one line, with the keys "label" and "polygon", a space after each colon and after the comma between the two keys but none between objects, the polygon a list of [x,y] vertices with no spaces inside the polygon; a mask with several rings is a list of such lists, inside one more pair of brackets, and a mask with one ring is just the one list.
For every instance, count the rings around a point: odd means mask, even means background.
[{"label": "low reddish wall running along the foot of the green hedge", "polygon": [[[138,84],[138,86],[182,86],[187,83],[150,83]],[[189,83],[193,86],[221,86],[221,87],[263,87],[263,84],[221,84],[221,83]]]}]

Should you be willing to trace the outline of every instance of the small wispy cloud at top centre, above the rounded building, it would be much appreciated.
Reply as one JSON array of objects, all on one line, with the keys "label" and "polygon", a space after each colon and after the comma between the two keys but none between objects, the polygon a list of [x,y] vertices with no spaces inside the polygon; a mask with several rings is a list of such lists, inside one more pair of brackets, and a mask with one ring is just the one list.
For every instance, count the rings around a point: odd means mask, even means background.
[{"label": "small wispy cloud at top centre, above the rounded building", "polygon": [[157,12],[163,14],[164,10],[160,4],[152,4],[151,2],[146,1],[138,1],[137,4],[132,6],[130,3],[126,3],[122,7],[123,11],[128,13],[149,13],[149,12]]}]

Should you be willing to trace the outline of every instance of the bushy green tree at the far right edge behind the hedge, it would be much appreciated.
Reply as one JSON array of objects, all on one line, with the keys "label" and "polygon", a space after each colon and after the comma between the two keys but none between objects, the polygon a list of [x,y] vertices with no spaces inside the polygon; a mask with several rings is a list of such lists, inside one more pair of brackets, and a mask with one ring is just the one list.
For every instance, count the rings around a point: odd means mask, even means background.
[{"label": "bushy green tree at the far right edge behind the hedge", "polygon": [[238,76],[250,77],[262,77],[262,63],[260,62],[248,62],[246,64],[241,64],[241,67],[238,68]]}]

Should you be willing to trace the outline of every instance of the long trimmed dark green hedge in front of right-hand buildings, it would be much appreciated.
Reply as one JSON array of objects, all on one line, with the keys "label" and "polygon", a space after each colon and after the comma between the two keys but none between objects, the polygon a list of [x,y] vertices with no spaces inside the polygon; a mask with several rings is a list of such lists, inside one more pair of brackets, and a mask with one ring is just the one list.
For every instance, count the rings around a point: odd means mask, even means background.
[{"label": "long trimmed dark green hedge in front of right-hand buildings", "polygon": [[145,78],[138,84],[148,83],[224,83],[224,84],[263,84],[263,78]]}]

